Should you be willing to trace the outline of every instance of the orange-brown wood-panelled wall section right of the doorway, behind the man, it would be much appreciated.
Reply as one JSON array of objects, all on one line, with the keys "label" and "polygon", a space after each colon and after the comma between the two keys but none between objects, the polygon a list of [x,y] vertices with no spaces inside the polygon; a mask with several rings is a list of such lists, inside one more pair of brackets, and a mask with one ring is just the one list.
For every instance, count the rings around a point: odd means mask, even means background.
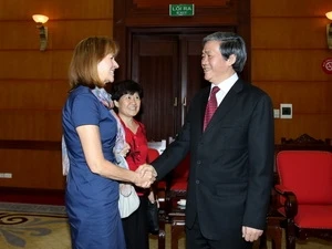
[{"label": "orange-brown wood-panelled wall section right of the doorway, behind the man", "polygon": [[321,69],[332,58],[326,44],[329,0],[251,1],[251,77],[274,108],[293,105],[292,120],[276,120],[276,143],[307,133],[332,137],[332,74]]}]

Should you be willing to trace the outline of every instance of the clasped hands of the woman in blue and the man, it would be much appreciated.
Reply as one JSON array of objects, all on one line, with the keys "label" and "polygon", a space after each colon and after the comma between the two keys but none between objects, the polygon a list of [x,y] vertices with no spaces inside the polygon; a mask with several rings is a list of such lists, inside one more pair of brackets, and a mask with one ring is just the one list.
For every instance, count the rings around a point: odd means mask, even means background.
[{"label": "clasped hands of the woman in blue and the man", "polygon": [[137,176],[134,184],[142,188],[149,188],[151,185],[156,180],[157,172],[149,164],[141,165],[136,170]]}]

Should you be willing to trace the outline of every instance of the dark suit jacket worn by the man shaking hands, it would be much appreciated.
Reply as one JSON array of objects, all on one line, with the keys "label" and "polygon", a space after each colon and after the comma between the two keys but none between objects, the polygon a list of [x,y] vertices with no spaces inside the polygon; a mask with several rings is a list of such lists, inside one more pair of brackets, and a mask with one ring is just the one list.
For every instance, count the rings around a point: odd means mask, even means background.
[{"label": "dark suit jacket worn by the man shaking hands", "polygon": [[153,166],[163,178],[190,152],[186,226],[197,215],[207,239],[263,229],[273,179],[273,107],[260,89],[238,80],[203,132],[209,87],[193,98],[186,122]]}]

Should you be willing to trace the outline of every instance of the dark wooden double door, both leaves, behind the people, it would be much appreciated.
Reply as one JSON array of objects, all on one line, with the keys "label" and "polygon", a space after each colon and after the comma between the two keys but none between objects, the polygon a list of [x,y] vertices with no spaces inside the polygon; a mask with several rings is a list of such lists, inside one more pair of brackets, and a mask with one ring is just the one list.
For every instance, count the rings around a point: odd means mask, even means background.
[{"label": "dark wooden double door, both leaves, behind the people", "polygon": [[144,87],[143,112],[148,141],[169,139],[181,127],[190,100],[201,87],[205,32],[132,33],[131,77]]}]

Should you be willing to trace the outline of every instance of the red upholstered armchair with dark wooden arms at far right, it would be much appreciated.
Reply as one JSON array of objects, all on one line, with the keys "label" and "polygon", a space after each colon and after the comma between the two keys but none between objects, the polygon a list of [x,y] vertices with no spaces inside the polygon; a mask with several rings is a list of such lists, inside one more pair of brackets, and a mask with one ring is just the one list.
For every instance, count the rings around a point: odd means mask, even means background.
[{"label": "red upholstered armchair with dark wooden arms at far right", "polygon": [[277,154],[277,210],[284,217],[286,248],[295,240],[332,239],[332,153],[281,151]]}]

